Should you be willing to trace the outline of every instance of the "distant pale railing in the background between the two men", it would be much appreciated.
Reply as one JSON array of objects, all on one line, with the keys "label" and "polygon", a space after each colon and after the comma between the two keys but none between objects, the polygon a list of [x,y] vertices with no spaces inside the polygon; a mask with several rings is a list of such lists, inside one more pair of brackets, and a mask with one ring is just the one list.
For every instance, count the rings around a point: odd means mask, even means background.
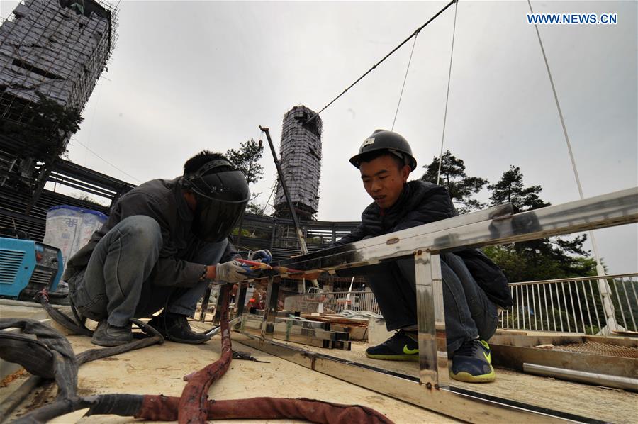
[{"label": "distant pale railing in the background between the two men", "polygon": [[284,300],[284,309],[301,313],[341,313],[365,311],[381,315],[371,291],[330,291],[298,294]]}]

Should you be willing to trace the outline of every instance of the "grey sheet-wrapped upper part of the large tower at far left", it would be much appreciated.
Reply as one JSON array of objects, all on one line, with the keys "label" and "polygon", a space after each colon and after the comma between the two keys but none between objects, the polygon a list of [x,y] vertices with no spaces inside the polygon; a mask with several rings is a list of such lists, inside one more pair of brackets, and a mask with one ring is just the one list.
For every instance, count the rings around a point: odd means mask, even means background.
[{"label": "grey sheet-wrapped upper part of the large tower at far left", "polygon": [[113,52],[116,8],[25,0],[0,26],[0,116],[21,123],[41,94],[82,110]]}]

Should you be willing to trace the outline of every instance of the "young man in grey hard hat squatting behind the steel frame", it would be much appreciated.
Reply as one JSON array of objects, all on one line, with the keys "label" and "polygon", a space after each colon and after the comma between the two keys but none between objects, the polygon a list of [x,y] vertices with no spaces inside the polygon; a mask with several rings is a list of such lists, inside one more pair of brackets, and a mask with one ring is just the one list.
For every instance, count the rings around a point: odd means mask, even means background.
[{"label": "young man in grey hard hat squatting behind the steel frame", "polygon": [[[425,181],[410,181],[416,160],[398,133],[376,130],[350,159],[359,169],[364,188],[374,199],[362,213],[358,228],[337,245],[392,233],[456,216],[447,190]],[[379,302],[388,330],[395,335],[369,347],[374,359],[418,361],[415,268],[412,259],[366,267],[366,280]],[[512,298],[508,281],[476,249],[441,255],[447,351],[452,378],[488,382],[496,378],[488,340],[496,331],[498,310]]]}]

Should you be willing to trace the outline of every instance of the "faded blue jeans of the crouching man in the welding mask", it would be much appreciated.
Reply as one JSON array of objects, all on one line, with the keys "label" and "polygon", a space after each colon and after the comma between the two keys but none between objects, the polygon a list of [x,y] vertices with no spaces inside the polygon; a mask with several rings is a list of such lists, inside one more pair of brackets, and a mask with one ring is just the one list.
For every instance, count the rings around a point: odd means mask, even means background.
[{"label": "faded blue jeans of the crouching man in the welding mask", "polygon": [[[181,259],[204,265],[217,264],[228,240],[194,242]],[[162,232],[155,219],[130,216],[111,228],[98,242],[89,264],[69,281],[77,310],[92,320],[107,319],[123,326],[129,318],[164,311],[193,316],[208,281],[176,287],[153,273],[162,248]],[[202,267],[203,272],[203,267]],[[195,282],[194,282],[195,283]]]}]

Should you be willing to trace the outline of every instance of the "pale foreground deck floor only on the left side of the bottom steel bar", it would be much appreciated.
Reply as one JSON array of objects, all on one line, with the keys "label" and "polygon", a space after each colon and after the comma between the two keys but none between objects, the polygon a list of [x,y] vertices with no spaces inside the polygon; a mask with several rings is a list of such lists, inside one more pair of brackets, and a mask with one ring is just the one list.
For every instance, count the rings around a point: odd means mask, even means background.
[{"label": "pale foreground deck floor only on the left side of the bottom steel bar", "polygon": [[[89,337],[69,337],[75,352],[95,347]],[[369,406],[384,413],[396,423],[452,423],[454,420],[432,413],[417,406],[397,401],[359,386],[333,379],[310,369],[292,364],[284,359],[253,350],[233,342],[233,350],[251,352],[261,364],[234,359],[230,369],[220,381],[211,387],[211,399],[237,399],[256,396],[288,398],[315,398],[334,403]],[[186,384],[183,377],[214,362],[220,355],[220,338],[216,336],[204,345],[183,345],[166,342],[116,357],[89,362],[79,369],[79,394],[165,394],[179,396]],[[26,375],[28,376],[28,374]],[[21,384],[26,376],[0,388],[0,401]],[[50,401],[55,389],[35,391],[12,417],[25,413]],[[131,423],[133,418],[116,415],[92,415],[82,418],[86,410],[63,415],[51,423]],[[216,420],[216,423],[233,423],[237,420]],[[276,420],[277,423],[301,423],[296,420]],[[242,423],[274,423],[274,420],[242,420]]]}]

